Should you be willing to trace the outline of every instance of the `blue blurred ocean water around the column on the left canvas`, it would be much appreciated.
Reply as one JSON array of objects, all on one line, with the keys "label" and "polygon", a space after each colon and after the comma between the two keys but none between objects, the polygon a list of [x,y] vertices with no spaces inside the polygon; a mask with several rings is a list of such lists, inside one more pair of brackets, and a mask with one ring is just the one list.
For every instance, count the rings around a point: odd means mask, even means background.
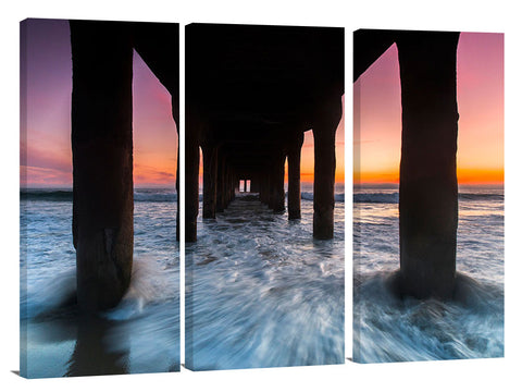
[{"label": "blue blurred ocean water around the column on the left canvas", "polygon": [[71,189],[21,191],[21,375],[179,370],[179,252],[173,189],[135,189],[130,287],[86,323],[74,296]]}]

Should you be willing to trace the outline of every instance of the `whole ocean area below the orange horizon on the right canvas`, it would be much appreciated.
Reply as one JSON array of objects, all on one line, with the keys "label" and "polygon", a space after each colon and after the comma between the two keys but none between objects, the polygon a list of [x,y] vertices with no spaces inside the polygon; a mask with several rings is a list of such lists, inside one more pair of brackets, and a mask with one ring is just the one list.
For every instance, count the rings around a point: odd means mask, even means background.
[{"label": "whole ocean area below the orange horizon on the right canvas", "polygon": [[353,359],[360,363],[504,356],[504,188],[459,187],[457,271],[464,302],[400,301],[398,188],[353,194]]}]

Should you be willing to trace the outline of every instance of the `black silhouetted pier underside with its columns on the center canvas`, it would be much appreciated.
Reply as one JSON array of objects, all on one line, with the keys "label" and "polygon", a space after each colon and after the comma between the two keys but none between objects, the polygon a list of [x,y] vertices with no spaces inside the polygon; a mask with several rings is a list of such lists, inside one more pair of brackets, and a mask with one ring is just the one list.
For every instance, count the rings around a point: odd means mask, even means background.
[{"label": "black silhouetted pier underside with its columns on the center canvas", "polygon": [[300,149],[314,136],[313,236],[333,237],[335,131],[344,94],[344,29],[191,24],[186,28],[186,241],[197,240],[199,147],[203,218],[240,180],[274,212],[300,218]]}]

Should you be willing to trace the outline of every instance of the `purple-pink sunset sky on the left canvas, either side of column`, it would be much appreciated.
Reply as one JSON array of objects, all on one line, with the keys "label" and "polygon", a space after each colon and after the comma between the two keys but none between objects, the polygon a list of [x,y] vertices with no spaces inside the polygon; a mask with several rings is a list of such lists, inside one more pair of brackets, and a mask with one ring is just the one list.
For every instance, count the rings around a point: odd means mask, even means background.
[{"label": "purple-pink sunset sky on the left canvas, either side of column", "polygon": [[[67,21],[33,20],[27,30],[26,137],[21,161],[27,160],[28,187],[71,187],[72,64]],[[134,182],[138,186],[175,185],[177,133],[171,96],[134,54]]]}]

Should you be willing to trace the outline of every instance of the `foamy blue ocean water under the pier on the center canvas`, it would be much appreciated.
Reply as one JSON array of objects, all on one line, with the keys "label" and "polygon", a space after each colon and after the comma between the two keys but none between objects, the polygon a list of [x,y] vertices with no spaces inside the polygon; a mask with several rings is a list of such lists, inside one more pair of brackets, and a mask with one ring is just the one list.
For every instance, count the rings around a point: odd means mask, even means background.
[{"label": "foamy blue ocean water under the pier on the center canvas", "polygon": [[186,245],[186,355],[196,370],[345,363],[345,203],[334,238],[312,236],[313,193],[288,221],[251,194],[198,220]]}]

